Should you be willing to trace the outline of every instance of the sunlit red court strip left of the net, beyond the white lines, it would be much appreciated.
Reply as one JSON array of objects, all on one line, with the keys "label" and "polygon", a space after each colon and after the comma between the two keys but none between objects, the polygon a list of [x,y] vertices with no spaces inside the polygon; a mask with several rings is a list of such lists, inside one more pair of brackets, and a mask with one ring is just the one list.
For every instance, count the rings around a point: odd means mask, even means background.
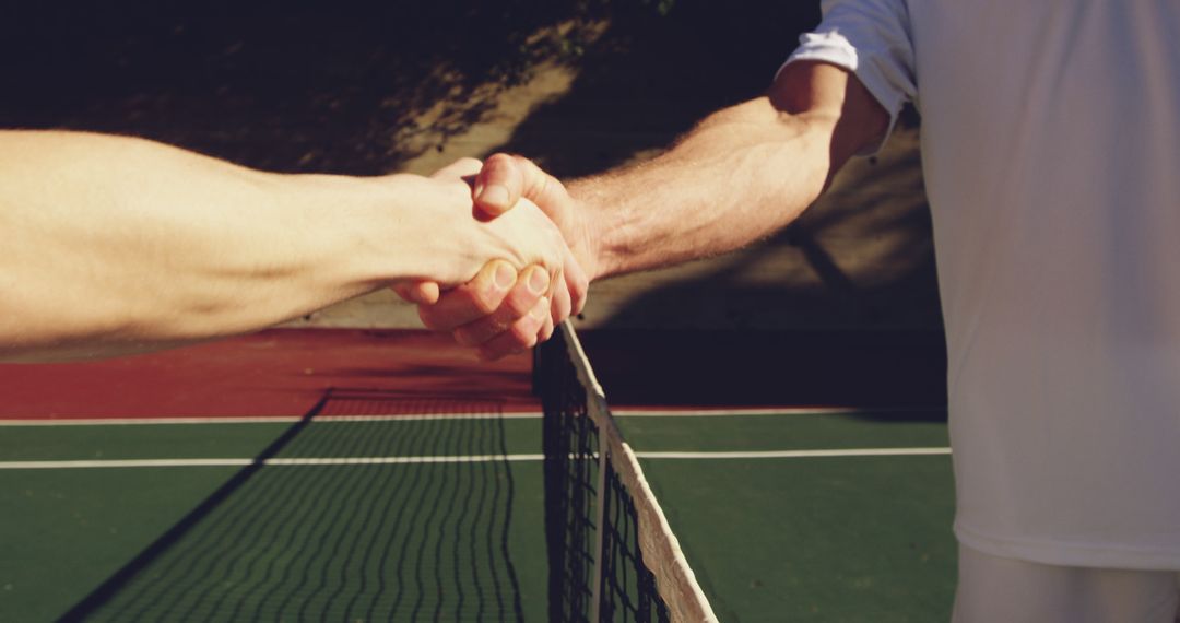
[{"label": "sunlit red court strip left of the net, beyond the white lines", "polygon": [[413,330],[273,329],[84,363],[0,365],[0,419],[302,417],[330,391],[538,411],[531,359]]}]

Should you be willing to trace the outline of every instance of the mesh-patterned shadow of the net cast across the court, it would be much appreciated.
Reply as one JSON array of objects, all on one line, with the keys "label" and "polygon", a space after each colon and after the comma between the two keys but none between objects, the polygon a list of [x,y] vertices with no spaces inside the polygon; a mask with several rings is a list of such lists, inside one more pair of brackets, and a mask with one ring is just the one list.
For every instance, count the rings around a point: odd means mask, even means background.
[{"label": "mesh-patterned shadow of the net cast across the court", "polygon": [[[520,621],[509,549],[514,483],[505,460],[297,463],[503,457],[503,421],[487,417],[500,408],[329,391],[63,621]],[[388,419],[316,419],[389,413],[447,417],[408,429]],[[288,464],[266,465],[276,459]]]}]

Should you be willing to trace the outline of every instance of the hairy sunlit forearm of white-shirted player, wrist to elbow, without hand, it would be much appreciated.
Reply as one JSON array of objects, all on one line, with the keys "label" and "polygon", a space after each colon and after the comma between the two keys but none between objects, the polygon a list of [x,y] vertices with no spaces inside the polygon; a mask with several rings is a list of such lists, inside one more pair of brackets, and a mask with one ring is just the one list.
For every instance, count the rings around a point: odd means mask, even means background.
[{"label": "hairy sunlit forearm of white-shirted player, wrist to elbow, without hand", "polygon": [[833,123],[755,99],[650,162],[570,183],[591,212],[596,276],[726,253],[781,229],[824,189]]}]

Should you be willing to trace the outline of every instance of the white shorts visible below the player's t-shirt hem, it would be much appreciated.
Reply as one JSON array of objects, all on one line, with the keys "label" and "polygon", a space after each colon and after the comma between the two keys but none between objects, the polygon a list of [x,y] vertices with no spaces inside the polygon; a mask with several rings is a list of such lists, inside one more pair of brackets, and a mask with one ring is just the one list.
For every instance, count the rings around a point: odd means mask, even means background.
[{"label": "white shorts visible below the player's t-shirt hem", "polygon": [[1180,572],[1056,566],[959,545],[955,623],[1173,623]]}]

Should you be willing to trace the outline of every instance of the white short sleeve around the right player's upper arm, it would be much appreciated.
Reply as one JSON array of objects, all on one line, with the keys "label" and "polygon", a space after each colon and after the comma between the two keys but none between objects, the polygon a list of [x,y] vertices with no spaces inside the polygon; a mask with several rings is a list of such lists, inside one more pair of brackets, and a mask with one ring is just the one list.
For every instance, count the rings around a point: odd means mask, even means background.
[{"label": "white short sleeve around the right player's upper arm", "polygon": [[[906,101],[917,104],[913,41],[905,0],[824,0],[824,20],[799,38],[784,66],[818,60],[854,73],[890,114],[889,137]],[[779,70],[781,71],[781,68]],[[880,144],[867,150],[872,153]]]}]

